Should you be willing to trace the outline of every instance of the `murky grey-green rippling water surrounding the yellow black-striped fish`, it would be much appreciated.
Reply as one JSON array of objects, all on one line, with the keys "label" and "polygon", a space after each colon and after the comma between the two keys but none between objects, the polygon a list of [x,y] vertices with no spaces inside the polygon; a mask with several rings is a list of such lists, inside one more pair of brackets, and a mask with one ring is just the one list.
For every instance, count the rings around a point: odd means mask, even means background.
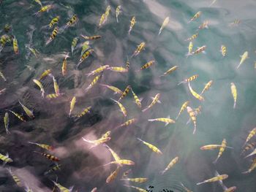
[{"label": "murky grey-green rippling water surrounding the yellow black-striped fish", "polygon": [[[1,154],[9,153],[13,162],[1,167],[0,191],[24,191],[12,180],[4,168],[10,167],[23,185],[29,185],[33,191],[52,191],[53,183],[74,191],[132,191],[123,185],[135,185],[148,188],[153,185],[154,191],[167,188],[173,191],[184,191],[180,183],[184,183],[192,191],[222,191],[219,183],[196,185],[208,178],[214,177],[217,170],[220,174],[228,174],[224,183],[227,187],[236,185],[237,191],[256,191],[255,172],[241,174],[249,169],[252,158],[244,159],[240,155],[241,147],[256,119],[256,88],[255,88],[255,8],[256,1],[220,1],[211,7],[211,1],[42,1],[43,5],[53,4],[54,8],[39,16],[33,15],[39,10],[34,1],[1,1],[1,23],[12,25],[12,31],[18,39],[20,53],[15,55],[12,44],[7,43],[0,53],[0,69],[7,82],[0,80],[0,90],[6,91],[0,95],[1,116]],[[108,21],[98,28],[99,19],[106,7],[111,11]],[[116,23],[115,9],[121,5],[119,23]],[[187,21],[201,11],[202,15],[192,23]],[[64,26],[73,14],[78,15],[79,22],[58,34],[53,42],[45,46],[53,29],[44,28],[53,17],[59,15],[58,26]],[[136,17],[131,34],[128,35],[129,20]],[[158,31],[165,17],[170,17],[170,23],[158,37]],[[241,20],[238,26],[230,27],[234,20]],[[186,58],[189,42],[184,39],[196,33],[196,29],[204,20],[209,21],[209,28],[199,31],[199,36],[193,41],[196,47],[206,45],[206,54],[192,55]],[[32,38],[31,31],[33,31]],[[1,31],[1,35],[6,34]],[[71,51],[74,37],[101,35],[101,39],[91,41],[94,53],[80,64],[75,65],[80,58],[79,45],[74,55],[67,59],[67,76],[61,74],[64,54]],[[39,57],[28,55],[25,45],[39,50]],[[140,42],[146,42],[146,48],[135,58],[130,58]],[[219,49],[227,47],[227,55],[223,58]],[[240,57],[245,51],[249,58],[239,69]],[[71,55],[71,54],[70,54]],[[151,110],[141,112],[134,103],[132,93],[121,100],[127,109],[127,118],[119,112],[118,105],[110,99],[118,99],[112,91],[102,88],[99,83],[90,91],[84,89],[91,83],[94,76],[86,77],[86,73],[101,65],[123,66],[129,57],[128,73],[105,71],[99,82],[113,85],[121,91],[132,86],[132,90],[142,100],[144,109],[151,103],[151,96],[160,93],[162,104],[155,104]],[[155,60],[156,64],[149,69],[135,72],[147,61]],[[172,66],[178,69],[165,77],[159,77]],[[39,78],[46,69],[52,69],[61,93],[64,96],[48,100],[40,97],[39,89],[33,79]],[[204,93],[205,101],[195,99],[187,84],[178,82],[198,74],[197,80],[191,82],[192,88],[200,93],[206,82],[213,80],[211,88]],[[233,109],[233,97],[230,82],[234,82],[238,91],[236,109]],[[42,80],[45,94],[54,93],[53,80],[50,77]],[[77,103],[72,115],[80,113],[91,106],[91,112],[75,121],[69,118],[69,101],[76,96]],[[34,110],[34,119],[29,119],[18,104],[20,100],[26,107]],[[189,106],[202,106],[202,112],[197,115],[197,131],[192,134],[193,125],[186,125],[189,115],[185,110],[175,124],[165,127],[165,123],[148,122],[152,118],[175,119],[184,101],[190,101]],[[4,113],[12,110],[23,114],[26,123],[9,112],[10,134],[4,130]],[[138,122],[129,127],[112,131],[108,145],[121,158],[135,161],[135,166],[123,166],[116,180],[106,184],[105,180],[116,169],[116,165],[102,166],[113,161],[112,155],[103,147],[89,150],[90,145],[81,137],[98,139],[106,131],[131,118]],[[152,153],[146,145],[136,137],[156,145],[163,153]],[[218,150],[202,151],[200,147],[208,144],[221,144],[227,139],[227,145],[234,147],[226,149],[217,165],[212,164],[217,158]],[[53,155],[61,158],[61,170],[44,175],[52,166],[48,159],[33,151],[48,153],[28,142],[39,142],[53,145]],[[255,137],[250,142],[255,141]],[[179,157],[178,163],[164,175],[159,172],[165,169],[170,160]],[[129,177],[148,177],[143,184],[125,183],[120,181],[124,171],[132,169]]]}]

